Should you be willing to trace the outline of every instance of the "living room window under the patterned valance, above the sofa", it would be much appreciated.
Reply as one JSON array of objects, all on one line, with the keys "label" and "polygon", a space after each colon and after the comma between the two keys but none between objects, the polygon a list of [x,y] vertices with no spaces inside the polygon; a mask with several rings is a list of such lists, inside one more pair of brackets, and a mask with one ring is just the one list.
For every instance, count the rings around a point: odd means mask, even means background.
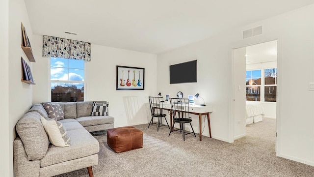
[{"label": "living room window under the patterned valance, above the sofa", "polygon": [[50,59],[51,101],[84,101],[84,60]]}]

